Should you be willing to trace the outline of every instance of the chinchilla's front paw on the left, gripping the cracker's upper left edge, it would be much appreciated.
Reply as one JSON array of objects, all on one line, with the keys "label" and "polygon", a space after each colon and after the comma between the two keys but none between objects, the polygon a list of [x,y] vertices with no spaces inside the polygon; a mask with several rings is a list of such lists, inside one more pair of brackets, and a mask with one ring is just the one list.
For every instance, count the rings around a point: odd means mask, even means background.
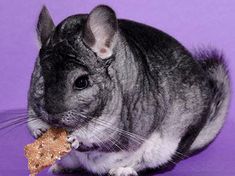
[{"label": "chinchilla's front paw on the left, gripping the cracker's upper left edge", "polygon": [[43,133],[45,133],[50,128],[50,126],[46,122],[43,122],[41,119],[29,118],[28,128],[33,137],[37,139]]}]

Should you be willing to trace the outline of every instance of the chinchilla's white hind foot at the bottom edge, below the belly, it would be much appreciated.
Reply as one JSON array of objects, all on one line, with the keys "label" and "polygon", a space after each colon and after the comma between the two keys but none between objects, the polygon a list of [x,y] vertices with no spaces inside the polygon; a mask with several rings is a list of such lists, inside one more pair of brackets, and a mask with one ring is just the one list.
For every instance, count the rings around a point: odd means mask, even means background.
[{"label": "chinchilla's white hind foot at the bottom edge, below the belly", "polygon": [[137,172],[131,167],[119,167],[109,171],[110,176],[138,176]]}]

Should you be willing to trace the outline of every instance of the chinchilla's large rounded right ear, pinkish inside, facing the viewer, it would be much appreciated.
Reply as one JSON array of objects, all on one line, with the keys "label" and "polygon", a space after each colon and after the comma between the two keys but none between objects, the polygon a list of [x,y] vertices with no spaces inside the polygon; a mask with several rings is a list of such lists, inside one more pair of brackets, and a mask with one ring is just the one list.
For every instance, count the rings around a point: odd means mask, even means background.
[{"label": "chinchilla's large rounded right ear, pinkish inside, facing the viewer", "polygon": [[115,12],[110,7],[97,6],[88,16],[83,40],[100,58],[106,59],[113,54],[117,25]]}]

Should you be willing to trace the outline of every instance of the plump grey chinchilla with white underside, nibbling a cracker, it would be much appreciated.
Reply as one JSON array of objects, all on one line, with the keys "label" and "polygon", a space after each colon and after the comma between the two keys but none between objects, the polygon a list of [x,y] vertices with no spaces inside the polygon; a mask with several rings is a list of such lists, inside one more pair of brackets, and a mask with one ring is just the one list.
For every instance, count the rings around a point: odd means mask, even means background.
[{"label": "plump grey chinchilla with white underside, nibbling a cracker", "polygon": [[190,53],[105,5],[57,26],[43,7],[37,33],[28,127],[36,138],[64,128],[74,148],[52,172],[137,175],[204,148],[222,128],[230,83],[217,50]]}]

